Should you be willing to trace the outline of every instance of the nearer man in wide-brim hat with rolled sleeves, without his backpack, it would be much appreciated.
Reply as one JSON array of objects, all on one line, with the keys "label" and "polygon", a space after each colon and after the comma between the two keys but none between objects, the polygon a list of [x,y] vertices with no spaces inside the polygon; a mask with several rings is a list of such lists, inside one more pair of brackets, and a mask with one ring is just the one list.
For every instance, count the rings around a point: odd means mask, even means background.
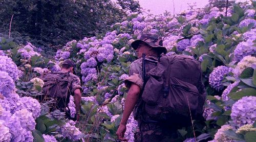
[{"label": "nearer man in wide-brim hat with rolled sleeves, without his backpack", "polygon": [[[158,61],[161,54],[166,54],[166,49],[163,46],[163,40],[156,34],[143,34],[138,40],[131,44],[132,48],[136,51],[138,60],[135,60],[130,67],[130,77],[125,79],[124,83],[129,88],[127,98],[125,99],[123,116],[116,132],[118,139],[127,141],[124,138],[126,131],[126,122],[133,112],[134,119],[138,121],[139,128],[136,129],[134,138],[135,141],[172,141],[173,136],[165,137],[166,133],[173,134],[172,130],[162,129],[156,123],[144,123],[150,121],[151,117],[142,112],[143,101],[141,92],[143,92],[143,75],[142,75],[142,55],[145,54],[145,59],[151,61]],[[156,67],[153,62],[147,62],[145,65],[146,70]],[[142,120],[143,118],[143,120]],[[163,132],[165,131],[165,132]],[[156,135],[157,134],[157,135]]]}]

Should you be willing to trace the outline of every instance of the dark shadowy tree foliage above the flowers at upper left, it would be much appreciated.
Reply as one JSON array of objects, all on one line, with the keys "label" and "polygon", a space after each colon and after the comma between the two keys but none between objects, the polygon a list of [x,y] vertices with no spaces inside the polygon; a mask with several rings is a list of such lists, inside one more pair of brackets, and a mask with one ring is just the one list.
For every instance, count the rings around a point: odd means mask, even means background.
[{"label": "dark shadowy tree foliage above the flowers at upper left", "polygon": [[[118,1],[1,1],[0,32],[8,35],[12,19],[12,37],[29,36],[33,43],[48,46],[64,44],[71,39],[104,33],[126,16],[125,11],[140,12],[133,0]],[[16,33],[19,32],[19,33]],[[51,45],[50,45],[51,46]],[[48,46],[49,47],[49,46]]]}]

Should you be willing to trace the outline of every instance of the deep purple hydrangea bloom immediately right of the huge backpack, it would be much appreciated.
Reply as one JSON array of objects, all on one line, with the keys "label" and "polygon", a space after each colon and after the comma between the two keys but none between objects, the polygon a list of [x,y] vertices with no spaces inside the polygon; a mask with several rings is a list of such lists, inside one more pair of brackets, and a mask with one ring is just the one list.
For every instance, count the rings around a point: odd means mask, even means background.
[{"label": "deep purple hydrangea bloom immediately right of the huge backpack", "polygon": [[215,88],[216,90],[223,89],[222,80],[225,75],[232,72],[232,68],[221,65],[214,68],[214,70],[209,75],[209,84],[212,88]]}]

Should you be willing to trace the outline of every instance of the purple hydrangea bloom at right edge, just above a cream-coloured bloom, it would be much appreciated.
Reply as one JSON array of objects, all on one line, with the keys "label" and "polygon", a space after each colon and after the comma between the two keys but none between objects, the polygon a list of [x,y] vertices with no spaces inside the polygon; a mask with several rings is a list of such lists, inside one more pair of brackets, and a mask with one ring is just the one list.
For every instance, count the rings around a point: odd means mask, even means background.
[{"label": "purple hydrangea bloom at right edge, just above a cream-coloured bloom", "polygon": [[241,61],[243,57],[256,53],[256,46],[252,40],[240,42],[234,50],[234,61]]}]

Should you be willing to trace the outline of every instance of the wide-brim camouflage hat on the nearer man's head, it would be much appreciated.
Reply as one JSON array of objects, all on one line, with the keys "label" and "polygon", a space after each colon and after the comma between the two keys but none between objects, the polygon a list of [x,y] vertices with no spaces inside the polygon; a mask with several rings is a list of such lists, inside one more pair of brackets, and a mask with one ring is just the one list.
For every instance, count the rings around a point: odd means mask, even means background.
[{"label": "wide-brim camouflage hat on the nearer man's head", "polygon": [[141,42],[144,42],[153,48],[157,48],[157,50],[161,53],[166,54],[167,52],[166,48],[163,46],[162,38],[157,34],[142,34],[139,39],[132,42],[132,48],[136,50]]}]

